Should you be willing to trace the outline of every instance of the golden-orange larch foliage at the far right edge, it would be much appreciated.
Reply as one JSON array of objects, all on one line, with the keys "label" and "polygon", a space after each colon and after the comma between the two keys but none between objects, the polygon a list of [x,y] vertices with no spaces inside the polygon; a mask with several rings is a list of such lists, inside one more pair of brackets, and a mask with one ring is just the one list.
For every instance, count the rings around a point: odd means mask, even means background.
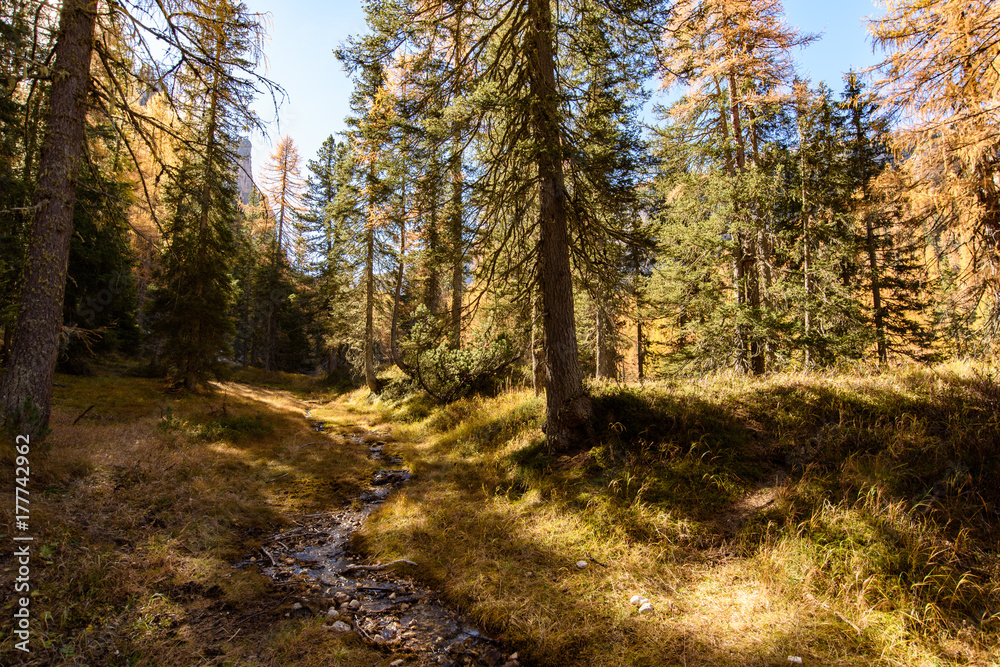
[{"label": "golden-orange larch foliage at the far right edge", "polygon": [[[958,234],[967,320],[1000,335],[1000,7],[990,0],[889,0],[870,26],[887,51],[879,92],[900,113],[895,149],[908,215]],[[950,263],[950,262],[949,262]],[[984,303],[989,295],[992,303]]]}]

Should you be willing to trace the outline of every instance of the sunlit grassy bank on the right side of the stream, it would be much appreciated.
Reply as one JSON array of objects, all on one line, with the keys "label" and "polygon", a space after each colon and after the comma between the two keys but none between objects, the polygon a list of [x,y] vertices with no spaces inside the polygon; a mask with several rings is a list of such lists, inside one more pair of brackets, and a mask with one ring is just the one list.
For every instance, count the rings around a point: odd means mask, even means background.
[{"label": "sunlit grassy bank on the right side of the stream", "polygon": [[593,387],[572,457],[530,393],[410,399],[416,474],[363,545],[541,664],[998,664],[993,372]]}]

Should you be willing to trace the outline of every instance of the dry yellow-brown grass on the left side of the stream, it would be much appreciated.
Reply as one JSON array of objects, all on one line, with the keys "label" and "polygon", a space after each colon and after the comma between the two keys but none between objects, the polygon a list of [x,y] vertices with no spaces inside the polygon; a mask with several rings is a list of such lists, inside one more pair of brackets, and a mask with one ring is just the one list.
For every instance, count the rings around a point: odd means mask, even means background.
[{"label": "dry yellow-brown grass on the left side of the stream", "polygon": [[[318,620],[286,618],[290,590],[231,567],[295,515],[347,502],[371,472],[364,452],[309,428],[308,407],[240,383],[190,395],[58,376],[52,433],[30,457],[33,652],[19,664],[386,663]],[[11,451],[0,462],[7,535]],[[0,553],[8,591],[11,556]],[[0,613],[12,605],[7,596]],[[11,664],[9,635],[0,651]]]}]

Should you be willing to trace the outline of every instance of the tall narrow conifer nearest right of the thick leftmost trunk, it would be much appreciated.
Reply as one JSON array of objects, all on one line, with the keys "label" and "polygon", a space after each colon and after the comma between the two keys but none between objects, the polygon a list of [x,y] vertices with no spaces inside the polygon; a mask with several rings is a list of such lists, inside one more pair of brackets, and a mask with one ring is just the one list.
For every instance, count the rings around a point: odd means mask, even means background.
[{"label": "tall narrow conifer nearest right of the thick leftmost trunk", "polygon": [[188,14],[186,33],[201,56],[178,80],[187,136],[170,174],[169,221],[159,285],[149,306],[161,358],[195,389],[228,354],[233,333],[232,268],[238,220],[236,127],[251,84],[231,72],[255,53],[260,26],[242,5],[211,0]]}]

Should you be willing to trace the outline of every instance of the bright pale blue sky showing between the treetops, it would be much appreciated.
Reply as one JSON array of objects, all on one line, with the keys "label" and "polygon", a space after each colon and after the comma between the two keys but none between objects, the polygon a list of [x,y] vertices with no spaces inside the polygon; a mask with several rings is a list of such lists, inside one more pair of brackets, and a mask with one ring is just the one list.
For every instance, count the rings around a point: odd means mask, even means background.
[{"label": "bright pale blue sky showing between the treetops", "polygon": [[[365,30],[360,0],[246,0],[251,11],[271,14],[271,41],[266,46],[267,76],[288,98],[271,124],[270,136],[253,137],[254,171],[267,159],[279,137],[288,134],[305,161],[315,157],[323,140],[344,129],[351,85],[333,49]],[[799,73],[813,83],[826,81],[834,92],[850,68],[878,62],[872,53],[867,21],[881,13],[875,0],[785,0],[788,23],[822,37],[795,54]],[[270,100],[259,100],[258,113],[271,120]]]}]

